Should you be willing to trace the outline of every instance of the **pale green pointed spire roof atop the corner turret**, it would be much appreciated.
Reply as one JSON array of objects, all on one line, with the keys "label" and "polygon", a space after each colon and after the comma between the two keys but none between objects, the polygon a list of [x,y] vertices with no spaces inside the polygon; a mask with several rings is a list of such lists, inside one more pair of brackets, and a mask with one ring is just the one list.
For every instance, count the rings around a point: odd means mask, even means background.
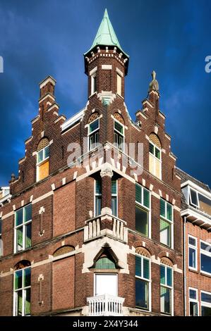
[{"label": "pale green pointed spire roof atop the corner turret", "polygon": [[111,25],[111,21],[109,20],[109,14],[107,12],[107,9],[104,11],[104,16],[102,18],[102,22],[100,23],[100,27],[97,31],[97,35],[94,39],[94,42],[92,43],[91,48],[85,53],[88,54],[91,49],[93,49],[95,46],[102,45],[102,46],[116,46],[118,47],[123,54],[128,56],[123,49],[121,49],[121,46],[119,44],[119,40],[116,37],[116,33],[114,32],[114,28]]}]

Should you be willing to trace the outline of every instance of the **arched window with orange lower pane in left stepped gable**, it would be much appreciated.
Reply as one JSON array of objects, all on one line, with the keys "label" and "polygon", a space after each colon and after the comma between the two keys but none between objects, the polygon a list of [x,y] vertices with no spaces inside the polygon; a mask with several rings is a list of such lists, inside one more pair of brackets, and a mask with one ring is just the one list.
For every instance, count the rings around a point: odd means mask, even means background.
[{"label": "arched window with orange lower pane in left stepped gable", "polygon": [[49,139],[42,138],[37,146],[37,182],[49,175]]}]

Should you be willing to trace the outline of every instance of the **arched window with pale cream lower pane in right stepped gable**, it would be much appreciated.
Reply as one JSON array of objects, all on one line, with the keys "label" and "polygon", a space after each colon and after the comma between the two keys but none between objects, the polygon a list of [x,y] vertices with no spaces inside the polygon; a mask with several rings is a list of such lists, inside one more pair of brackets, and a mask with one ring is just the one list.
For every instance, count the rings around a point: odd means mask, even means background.
[{"label": "arched window with pale cream lower pane in right stepped gable", "polygon": [[150,135],[149,170],[159,179],[162,178],[162,146],[155,133]]}]

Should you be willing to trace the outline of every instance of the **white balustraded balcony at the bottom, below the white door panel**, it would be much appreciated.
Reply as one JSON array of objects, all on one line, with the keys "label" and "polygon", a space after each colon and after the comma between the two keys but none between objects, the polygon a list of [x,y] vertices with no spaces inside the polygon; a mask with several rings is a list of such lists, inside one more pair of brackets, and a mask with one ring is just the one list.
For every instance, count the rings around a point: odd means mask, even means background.
[{"label": "white balustraded balcony at the bottom, below the white door panel", "polygon": [[92,296],[87,299],[89,316],[123,316],[124,298],[111,294]]}]

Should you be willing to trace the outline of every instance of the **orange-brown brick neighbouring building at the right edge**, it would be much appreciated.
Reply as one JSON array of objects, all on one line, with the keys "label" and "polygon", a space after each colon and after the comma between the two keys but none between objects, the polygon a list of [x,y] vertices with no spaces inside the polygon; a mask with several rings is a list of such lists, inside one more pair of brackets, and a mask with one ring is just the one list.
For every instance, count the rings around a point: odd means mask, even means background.
[{"label": "orange-brown brick neighbouring building at the right edge", "polygon": [[211,316],[211,191],[181,169],[184,314]]}]

